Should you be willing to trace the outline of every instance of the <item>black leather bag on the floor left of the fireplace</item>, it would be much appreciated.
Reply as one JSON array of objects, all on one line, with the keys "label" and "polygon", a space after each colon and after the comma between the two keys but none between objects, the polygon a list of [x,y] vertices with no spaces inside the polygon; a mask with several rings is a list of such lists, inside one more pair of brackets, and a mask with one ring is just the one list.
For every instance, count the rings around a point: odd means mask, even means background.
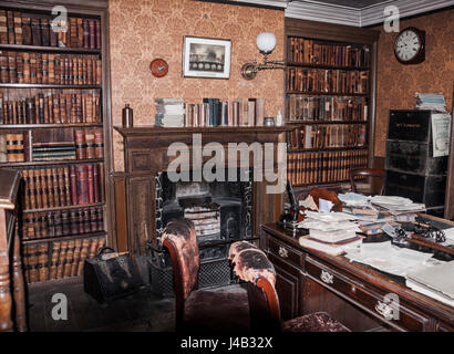
[{"label": "black leather bag on the floor left of the fireplace", "polygon": [[[111,251],[105,253],[105,251]],[[97,302],[130,295],[142,285],[142,279],[127,252],[117,253],[110,247],[97,257],[86,259],[83,267],[83,287]]]}]

